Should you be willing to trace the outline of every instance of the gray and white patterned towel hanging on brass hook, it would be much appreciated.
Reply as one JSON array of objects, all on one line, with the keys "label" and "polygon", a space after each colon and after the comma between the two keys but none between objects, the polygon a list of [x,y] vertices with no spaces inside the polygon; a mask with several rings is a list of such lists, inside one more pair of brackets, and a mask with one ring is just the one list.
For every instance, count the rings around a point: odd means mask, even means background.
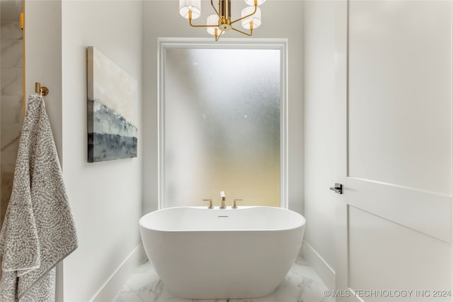
[{"label": "gray and white patterned towel hanging on brass hook", "polygon": [[76,248],[45,103],[41,96],[30,95],[0,233],[0,301],[55,301],[55,266]]}]

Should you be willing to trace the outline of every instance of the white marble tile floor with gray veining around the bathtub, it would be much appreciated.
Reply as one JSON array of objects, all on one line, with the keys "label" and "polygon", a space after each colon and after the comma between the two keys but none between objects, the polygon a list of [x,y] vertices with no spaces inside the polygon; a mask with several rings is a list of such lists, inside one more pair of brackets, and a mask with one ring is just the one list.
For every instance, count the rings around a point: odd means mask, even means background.
[{"label": "white marble tile floor with gray veining around the bathtub", "polygon": [[114,302],[334,302],[324,294],[327,287],[314,269],[302,258],[297,258],[285,280],[273,294],[263,298],[188,300],[173,296],[159,279],[151,263],[145,262],[130,276]]}]

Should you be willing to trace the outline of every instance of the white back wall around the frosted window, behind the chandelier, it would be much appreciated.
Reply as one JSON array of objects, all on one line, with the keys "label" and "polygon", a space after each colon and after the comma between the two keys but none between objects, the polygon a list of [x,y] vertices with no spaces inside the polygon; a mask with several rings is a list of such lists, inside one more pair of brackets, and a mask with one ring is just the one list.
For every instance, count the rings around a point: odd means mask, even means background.
[{"label": "white back wall around the frosted window, behind the chandelier", "polygon": [[[238,16],[245,6],[242,1],[233,2],[233,14]],[[202,13],[210,13],[209,1],[202,1]],[[239,11],[239,12],[238,12]],[[288,125],[289,125],[289,207],[303,212],[303,71],[302,30],[294,28],[293,20],[300,20],[303,1],[267,1],[262,6],[263,24],[253,37],[288,39]],[[203,15],[204,16],[204,15]],[[196,24],[205,22],[197,19]],[[289,22],[291,21],[291,22]],[[195,23],[195,21],[194,21]],[[302,26],[302,21],[301,24]],[[144,99],[144,212],[157,209],[157,39],[158,37],[212,37],[204,28],[190,28],[188,21],[178,13],[178,1],[144,1],[143,3],[143,81]],[[224,37],[244,37],[238,33],[226,33]],[[221,42],[221,41],[220,41]]]}]

